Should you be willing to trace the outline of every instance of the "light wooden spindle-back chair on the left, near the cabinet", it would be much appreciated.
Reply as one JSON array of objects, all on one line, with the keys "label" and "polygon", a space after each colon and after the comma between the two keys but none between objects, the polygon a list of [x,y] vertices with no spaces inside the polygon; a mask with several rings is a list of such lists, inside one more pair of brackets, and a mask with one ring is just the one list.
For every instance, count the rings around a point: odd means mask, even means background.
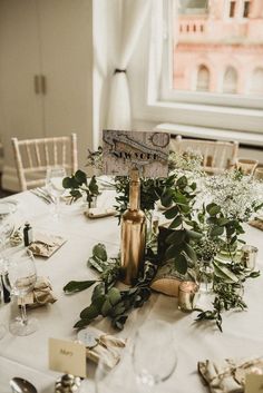
[{"label": "light wooden spindle-back chair on the left, near the cabinet", "polygon": [[67,137],[11,140],[22,191],[43,186],[48,167],[64,166],[69,175],[77,170],[76,134]]}]

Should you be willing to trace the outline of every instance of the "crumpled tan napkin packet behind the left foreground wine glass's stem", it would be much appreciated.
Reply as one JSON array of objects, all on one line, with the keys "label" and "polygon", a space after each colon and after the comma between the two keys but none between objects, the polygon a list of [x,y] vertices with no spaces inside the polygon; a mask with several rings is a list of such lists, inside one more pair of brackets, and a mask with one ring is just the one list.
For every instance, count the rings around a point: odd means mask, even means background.
[{"label": "crumpled tan napkin packet behind the left foreground wine glass's stem", "polygon": [[[39,307],[45,304],[52,304],[57,301],[52,292],[52,286],[47,277],[38,277],[33,289],[25,296],[25,304],[29,307]],[[21,305],[21,299],[18,299],[18,305]]]}]

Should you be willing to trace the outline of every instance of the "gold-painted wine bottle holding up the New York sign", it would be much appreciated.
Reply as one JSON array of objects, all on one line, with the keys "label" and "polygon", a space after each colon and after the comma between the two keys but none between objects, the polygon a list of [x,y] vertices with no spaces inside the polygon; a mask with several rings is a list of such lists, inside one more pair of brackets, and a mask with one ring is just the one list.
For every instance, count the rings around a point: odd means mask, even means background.
[{"label": "gold-painted wine bottle holding up the New York sign", "polygon": [[129,208],[121,218],[121,268],[125,284],[132,284],[144,265],[146,218],[139,209],[140,181],[133,169],[129,183]]}]

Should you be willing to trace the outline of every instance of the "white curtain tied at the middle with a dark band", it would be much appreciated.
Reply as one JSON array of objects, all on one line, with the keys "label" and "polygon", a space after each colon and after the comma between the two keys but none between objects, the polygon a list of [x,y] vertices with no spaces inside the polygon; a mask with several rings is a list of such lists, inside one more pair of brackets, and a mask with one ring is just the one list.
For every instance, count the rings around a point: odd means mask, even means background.
[{"label": "white curtain tied at the middle with a dark band", "polygon": [[150,1],[123,0],[120,43],[108,101],[108,129],[125,130],[132,128],[129,86],[126,70],[142,33]]}]

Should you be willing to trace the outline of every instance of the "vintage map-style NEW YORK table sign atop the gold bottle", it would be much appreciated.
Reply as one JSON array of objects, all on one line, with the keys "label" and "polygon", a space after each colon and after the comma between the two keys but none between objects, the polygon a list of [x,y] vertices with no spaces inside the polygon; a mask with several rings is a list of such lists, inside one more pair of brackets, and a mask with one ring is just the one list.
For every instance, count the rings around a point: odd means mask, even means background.
[{"label": "vintage map-style NEW YORK table sign atop the gold bottle", "polygon": [[137,168],[144,177],[168,174],[169,134],[104,130],[104,173],[127,176]]}]

